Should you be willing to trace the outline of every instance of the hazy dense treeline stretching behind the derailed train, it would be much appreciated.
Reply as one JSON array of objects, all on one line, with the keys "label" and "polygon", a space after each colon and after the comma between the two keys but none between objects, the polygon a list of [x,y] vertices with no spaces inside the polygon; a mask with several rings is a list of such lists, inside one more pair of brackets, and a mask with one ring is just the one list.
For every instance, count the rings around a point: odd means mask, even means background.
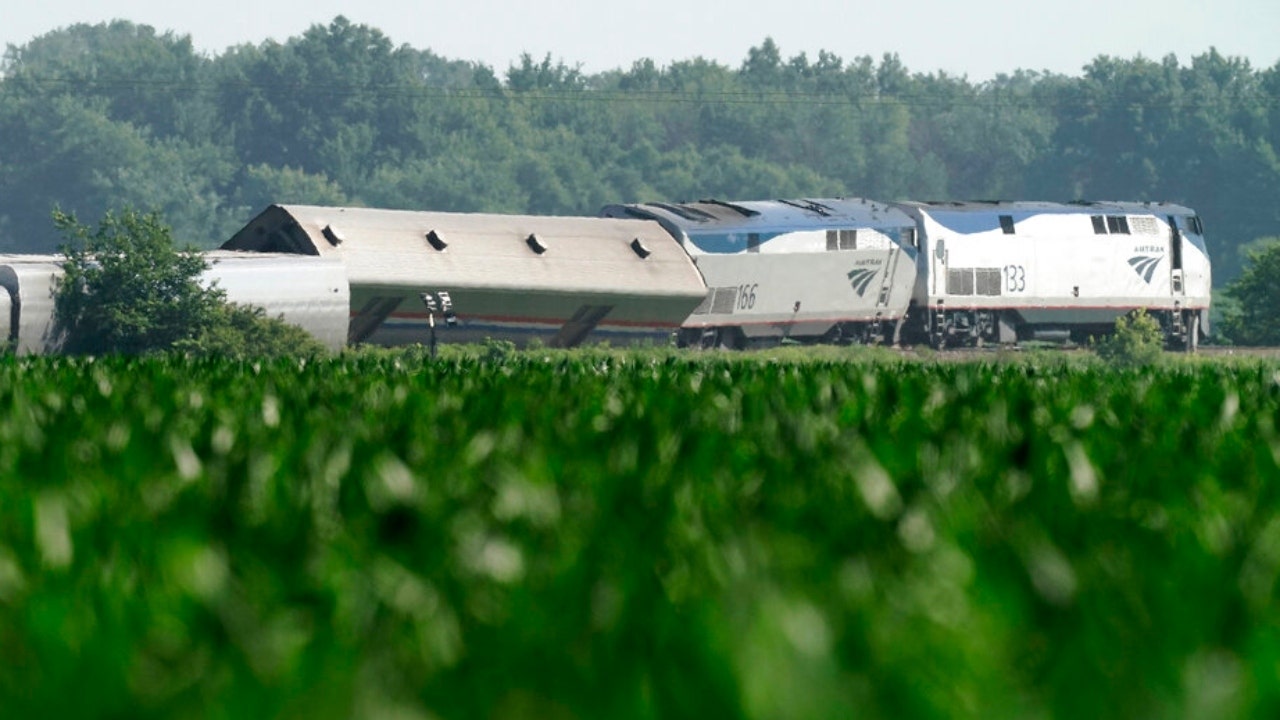
[{"label": "hazy dense treeline stretching behind the derailed train", "polygon": [[270,202],[594,214],[607,202],[854,195],[1169,200],[1199,210],[1215,278],[1276,234],[1280,67],[1212,49],[1100,56],[1080,77],[974,83],[895,55],[739,68],[694,58],[586,76],[396,47],[343,18],[284,44],[197,54],[114,22],[0,65],[0,249],[52,247],[51,205],[160,210],[225,241]]}]

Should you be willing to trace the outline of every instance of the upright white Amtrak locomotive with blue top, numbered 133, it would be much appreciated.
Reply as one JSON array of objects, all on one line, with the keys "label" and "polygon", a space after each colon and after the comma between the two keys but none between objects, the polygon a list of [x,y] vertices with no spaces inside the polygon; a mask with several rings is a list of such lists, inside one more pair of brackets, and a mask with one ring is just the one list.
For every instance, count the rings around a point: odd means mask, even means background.
[{"label": "upright white Amtrak locomotive with blue top, numbered 133", "polygon": [[[900,202],[918,223],[909,334],[937,347],[1084,342],[1144,309],[1170,346],[1208,331],[1210,259],[1188,208],[1165,202]],[[923,311],[922,311],[923,310]]]}]

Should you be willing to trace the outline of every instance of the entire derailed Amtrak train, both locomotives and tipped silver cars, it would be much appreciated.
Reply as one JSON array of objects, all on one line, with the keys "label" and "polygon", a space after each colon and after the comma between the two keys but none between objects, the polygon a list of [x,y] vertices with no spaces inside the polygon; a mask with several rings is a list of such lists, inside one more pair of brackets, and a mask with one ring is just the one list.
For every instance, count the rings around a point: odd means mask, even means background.
[{"label": "entire derailed Amtrak train, both locomotives and tipped silver cars", "polygon": [[[1211,263],[1170,202],[818,197],[605,205],[596,217],[273,205],[205,282],[326,346],[509,340],[1085,343],[1143,310],[1210,333]],[[55,352],[54,256],[0,256],[10,346]]]}]

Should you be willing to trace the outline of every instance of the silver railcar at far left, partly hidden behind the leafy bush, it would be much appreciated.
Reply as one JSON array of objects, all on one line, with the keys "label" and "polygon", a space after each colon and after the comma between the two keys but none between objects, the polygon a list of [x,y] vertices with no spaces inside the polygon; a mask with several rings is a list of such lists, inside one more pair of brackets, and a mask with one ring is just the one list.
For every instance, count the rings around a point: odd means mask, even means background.
[{"label": "silver railcar at far left, partly hidden behind the leafy bush", "polygon": [[[228,301],[262,307],[332,350],[344,345],[349,292],[340,261],[227,251],[206,252],[205,259],[201,282],[227,291]],[[5,337],[19,354],[59,350],[54,292],[61,263],[56,255],[0,255],[0,318],[8,320]]]}]

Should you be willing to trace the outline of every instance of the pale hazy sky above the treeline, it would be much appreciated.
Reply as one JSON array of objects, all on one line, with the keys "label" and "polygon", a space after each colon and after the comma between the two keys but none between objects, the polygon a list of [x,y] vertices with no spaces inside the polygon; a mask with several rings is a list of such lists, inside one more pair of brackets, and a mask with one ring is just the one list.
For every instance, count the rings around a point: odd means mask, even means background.
[{"label": "pale hazy sky above the treeline", "polygon": [[913,73],[982,82],[1016,69],[1079,76],[1098,55],[1187,64],[1216,47],[1256,69],[1280,61],[1280,0],[0,0],[0,47],[77,23],[125,19],[189,35],[210,56],[285,41],[335,17],[394,45],[488,64],[522,53],[585,73],[705,58],[737,68],[772,37],[783,59],[897,53]]}]

